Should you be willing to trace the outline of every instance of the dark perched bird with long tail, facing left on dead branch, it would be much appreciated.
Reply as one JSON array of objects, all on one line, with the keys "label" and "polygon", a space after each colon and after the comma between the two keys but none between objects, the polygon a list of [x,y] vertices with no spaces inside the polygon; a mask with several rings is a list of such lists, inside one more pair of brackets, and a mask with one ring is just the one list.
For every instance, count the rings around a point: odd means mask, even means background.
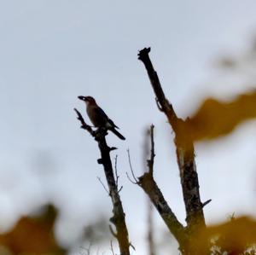
[{"label": "dark perched bird with long tail, facing left on dead branch", "polygon": [[101,107],[96,104],[96,101],[91,96],[79,96],[79,99],[84,101],[86,104],[86,112],[90,118],[90,121],[96,127],[104,127],[107,130],[110,130],[118,136],[120,139],[125,140],[125,137],[122,136],[118,130],[119,127],[113,123],[111,119],[108,118],[108,115],[104,113]]}]

